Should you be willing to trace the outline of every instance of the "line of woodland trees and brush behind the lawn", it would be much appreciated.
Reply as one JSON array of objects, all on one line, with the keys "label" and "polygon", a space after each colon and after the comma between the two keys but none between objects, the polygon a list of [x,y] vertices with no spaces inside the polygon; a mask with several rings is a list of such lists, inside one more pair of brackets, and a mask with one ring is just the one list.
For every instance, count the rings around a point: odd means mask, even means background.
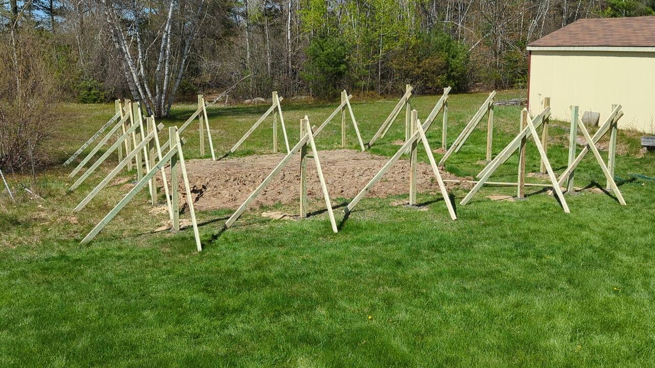
[{"label": "line of woodland trees and brush behind the lawn", "polygon": [[[521,88],[531,41],[578,18],[655,13],[655,0],[0,4],[0,50],[7,61],[0,63],[0,147],[17,144],[7,134],[17,129],[9,126],[15,123],[1,120],[15,119],[10,110],[29,103],[48,110],[57,101],[132,98],[164,117],[180,98],[242,80],[232,98],[269,97],[272,90],[333,98],[344,88],[377,96],[398,94],[406,83],[419,93],[444,86]],[[22,112],[20,119],[39,120],[29,114]],[[7,162],[6,152],[3,147],[0,161]]]}]

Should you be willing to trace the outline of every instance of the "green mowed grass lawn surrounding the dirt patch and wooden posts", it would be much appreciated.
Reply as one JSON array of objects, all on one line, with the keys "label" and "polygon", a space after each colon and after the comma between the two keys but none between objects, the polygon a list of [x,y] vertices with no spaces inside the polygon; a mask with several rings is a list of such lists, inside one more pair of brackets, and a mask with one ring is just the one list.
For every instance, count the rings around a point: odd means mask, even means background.
[{"label": "green mowed grass lawn surrounding the dirt patch and wooden posts", "polygon": [[[499,92],[496,100],[517,96]],[[413,100],[419,119],[438,98]],[[449,143],[486,98],[451,96]],[[396,101],[353,101],[365,142]],[[318,125],[338,103],[282,105],[293,145],[301,117]],[[217,155],[266,109],[210,108]],[[520,109],[496,107],[494,154],[517,133]],[[626,207],[587,190],[567,194],[567,214],[536,187],[519,202],[486,198],[515,195],[514,187],[485,187],[459,206],[467,191],[455,189],[451,221],[440,194],[419,188],[423,210],[391,206],[406,195],[364,198],[338,234],[324,212],[274,221],[261,217],[267,209],[251,208],[225,232],[231,211],[199,212],[197,253],[190,229],[153,233],[167,215],[151,212],[145,191],[79,245],[127,189],[113,185],[72,211],[116,156],[71,194],[72,167],[60,164],[113,115],[113,104],[65,110],[69,119],[50,144],[58,163],[35,183],[44,199],[20,193],[11,203],[0,195],[0,367],[645,367],[655,359],[655,155],[639,157],[641,134],[619,136],[616,177]],[[179,126],[194,110],[176,105],[161,122]],[[403,118],[373,153],[395,153]],[[235,156],[271,153],[271,121]],[[357,149],[347,126],[348,147]],[[483,168],[485,127],[486,119],[446,170],[465,176]],[[187,159],[199,156],[197,128],[182,134]],[[339,129],[337,118],[316,138],[319,149],[339,148]],[[550,132],[549,156],[561,173],[568,123],[553,122]],[[440,147],[441,114],[428,138]],[[538,153],[532,141],[528,147],[527,171],[537,172]],[[421,146],[419,160],[427,162]],[[492,179],[516,175],[512,156]],[[29,181],[8,179],[16,188]],[[605,187],[591,154],[575,183]],[[322,210],[314,199],[310,209]],[[340,206],[351,198],[332,199]],[[342,208],[335,215],[341,222]]]}]

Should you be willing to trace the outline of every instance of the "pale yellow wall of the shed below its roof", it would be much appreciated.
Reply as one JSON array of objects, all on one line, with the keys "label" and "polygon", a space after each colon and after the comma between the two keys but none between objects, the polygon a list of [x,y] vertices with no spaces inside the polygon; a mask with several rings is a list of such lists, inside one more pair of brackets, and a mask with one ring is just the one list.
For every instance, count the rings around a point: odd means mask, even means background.
[{"label": "pale yellow wall of the shed below its roof", "polygon": [[550,97],[552,116],[569,121],[570,105],[601,114],[612,103],[623,107],[619,128],[655,134],[655,52],[533,50],[530,65],[531,115]]}]

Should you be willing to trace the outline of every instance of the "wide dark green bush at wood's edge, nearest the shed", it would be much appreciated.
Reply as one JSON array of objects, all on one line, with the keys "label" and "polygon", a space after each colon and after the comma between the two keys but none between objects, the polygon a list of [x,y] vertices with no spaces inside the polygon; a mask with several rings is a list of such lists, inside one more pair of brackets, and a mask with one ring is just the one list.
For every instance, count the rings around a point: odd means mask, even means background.
[{"label": "wide dark green bush at wood's edge, nearest the shed", "polygon": [[469,71],[466,47],[441,32],[425,33],[407,49],[390,58],[390,67],[406,83],[434,93],[445,86],[454,91],[466,88]]}]

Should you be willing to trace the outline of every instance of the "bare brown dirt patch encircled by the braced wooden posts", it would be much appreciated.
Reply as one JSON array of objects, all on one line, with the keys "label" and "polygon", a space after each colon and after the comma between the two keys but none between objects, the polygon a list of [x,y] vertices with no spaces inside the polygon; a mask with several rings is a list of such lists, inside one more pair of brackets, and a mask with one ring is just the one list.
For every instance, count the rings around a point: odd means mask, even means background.
[{"label": "bare brown dirt patch encircled by the braced wooden posts", "polygon": [[[282,158],[284,158],[283,154],[276,154],[224,158],[219,161],[208,159],[187,161],[187,174],[189,174],[195,208],[198,210],[238,208]],[[347,149],[321,151],[319,158],[326,178],[327,189],[333,200],[334,198],[353,198],[389,159],[384,156]],[[299,165],[300,155],[296,155],[263,189],[251,207],[270,206],[276,203],[297,203],[300,183]],[[309,199],[322,201],[322,191],[313,158],[307,159],[307,173]],[[419,191],[438,192],[439,186],[434,179],[430,165],[419,162],[417,176]],[[447,172],[442,173],[442,177],[443,179],[462,179]],[[457,186],[449,183],[446,185],[448,187]],[[409,161],[402,159],[384,174],[367,196],[381,198],[394,194],[407,194],[408,191]],[[185,204],[187,198],[181,180],[178,185],[178,193],[181,202]]]}]

